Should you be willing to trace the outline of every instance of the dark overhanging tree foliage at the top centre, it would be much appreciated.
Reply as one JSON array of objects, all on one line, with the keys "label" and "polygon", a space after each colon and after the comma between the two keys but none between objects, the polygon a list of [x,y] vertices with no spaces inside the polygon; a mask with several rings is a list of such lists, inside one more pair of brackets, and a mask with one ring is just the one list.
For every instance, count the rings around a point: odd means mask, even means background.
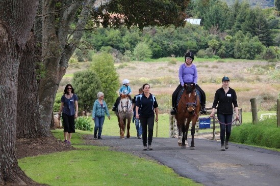
[{"label": "dark overhanging tree foliage at the top centre", "polygon": [[[137,25],[140,29],[167,25],[178,27],[185,24],[185,9],[189,2],[189,0],[111,0],[108,5],[100,6],[98,13],[106,10],[102,16],[105,22],[111,22],[114,26],[125,24],[130,28]],[[114,16],[112,19],[108,13],[119,16]]]}]

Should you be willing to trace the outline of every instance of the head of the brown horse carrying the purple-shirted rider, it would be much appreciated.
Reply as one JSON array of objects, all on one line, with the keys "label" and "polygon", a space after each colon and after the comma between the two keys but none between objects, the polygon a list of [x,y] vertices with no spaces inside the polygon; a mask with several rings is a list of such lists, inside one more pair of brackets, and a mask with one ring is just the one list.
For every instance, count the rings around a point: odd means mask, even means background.
[{"label": "head of the brown horse carrying the purple-shirted rider", "polygon": [[186,94],[184,95],[184,97],[185,97],[185,103],[187,104],[187,110],[189,113],[193,114],[197,105],[195,84],[194,83],[184,84],[184,88],[186,90]]}]

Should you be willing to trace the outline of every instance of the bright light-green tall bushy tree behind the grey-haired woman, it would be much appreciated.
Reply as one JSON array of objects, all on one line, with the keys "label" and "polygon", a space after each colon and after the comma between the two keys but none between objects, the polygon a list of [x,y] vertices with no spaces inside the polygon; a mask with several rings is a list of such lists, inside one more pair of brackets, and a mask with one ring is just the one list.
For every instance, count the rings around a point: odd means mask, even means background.
[{"label": "bright light-green tall bushy tree behind the grey-haired woman", "polygon": [[119,79],[114,67],[113,56],[104,52],[93,55],[91,69],[101,81],[100,89],[106,96],[108,107],[113,106],[117,98],[116,91],[119,88]]}]

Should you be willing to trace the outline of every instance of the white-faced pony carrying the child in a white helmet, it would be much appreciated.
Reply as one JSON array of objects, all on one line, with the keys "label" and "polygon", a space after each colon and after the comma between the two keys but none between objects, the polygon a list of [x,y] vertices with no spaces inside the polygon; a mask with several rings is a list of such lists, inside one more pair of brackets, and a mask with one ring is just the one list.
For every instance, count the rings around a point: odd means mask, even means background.
[{"label": "white-faced pony carrying the child in a white helmet", "polygon": [[130,122],[133,116],[133,110],[132,110],[132,101],[128,95],[120,96],[120,102],[117,110],[115,111],[115,114],[118,117],[120,138],[124,139],[126,120],[128,121],[127,122],[128,132],[126,133],[126,138],[130,138]]}]

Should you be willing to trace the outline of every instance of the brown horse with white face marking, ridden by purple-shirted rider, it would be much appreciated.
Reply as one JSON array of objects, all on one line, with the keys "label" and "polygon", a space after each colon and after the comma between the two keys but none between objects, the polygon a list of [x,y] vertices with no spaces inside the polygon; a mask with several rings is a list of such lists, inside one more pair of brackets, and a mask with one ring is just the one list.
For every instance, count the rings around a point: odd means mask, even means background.
[{"label": "brown horse with white face marking, ridden by purple-shirted rider", "polygon": [[[179,92],[179,94],[180,93],[181,91]],[[192,121],[192,127],[191,127],[192,141],[191,141],[190,149],[195,150],[194,133],[195,133],[195,124],[198,119],[199,111],[200,111],[200,100],[199,100],[199,96],[197,95],[197,92],[195,91],[195,84],[194,83],[184,84],[184,90],[179,99],[177,113],[175,115],[175,118],[177,120],[177,127],[179,130],[178,145],[181,146],[182,148],[186,148],[186,145],[188,145],[188,142],[186,144],[185,141],[187,141],[188,130],[190,127],[190,122]]]}]

